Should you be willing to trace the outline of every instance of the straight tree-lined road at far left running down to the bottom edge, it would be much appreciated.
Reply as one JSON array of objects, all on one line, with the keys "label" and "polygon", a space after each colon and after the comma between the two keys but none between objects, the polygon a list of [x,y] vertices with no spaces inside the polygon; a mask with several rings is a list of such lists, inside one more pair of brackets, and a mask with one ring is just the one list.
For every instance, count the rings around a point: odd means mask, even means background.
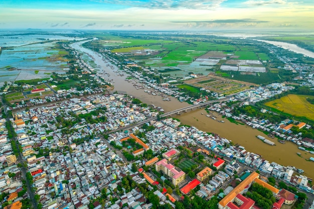
[{"label": "straight tree-lined road at far left running down to the bottom edge", "polygon": [[[7,105],[3,102],[2,99],[0,99],[1,103],[2,103],[2,106],[4,107],[5,109],[5,113],[7,115],[7,118],[6,120],[8,122],[10,122],[10,118],[9,118],[9,115],[8,115],[8,111],[7,111]],[[11,124],[11,122],[10,122]],[[14,131],[13,127],[11,126],[11,129],[12,131]],[[18,145],[19,142],[17,140],[17,137],[13,137],[11,140],[14,140],[16,142],[16,144]],[[22,165],[24,165],[26,163],[26,160],[23,159],[23,155],[22,153],[20,152],[20,149],[18,147],[18,154],[19,156],[17,157],[17,162],[16,163],[21,163]],[[22,166],[21,168],[21,172],[22,172],[22,177],[23,179],[25,180],[26,182],[26,185],[27,185],[27,194],[29,196],[29,199],[31,200],[32,204],[33,204],[33,208],[37,208],[37,201],[35,199],[35,192],[33,191],[33,186],[32,184],[30,184],[30,182],[26,179],[26,173],[27,173],[27,170],[26,170],[26,167]]]}]

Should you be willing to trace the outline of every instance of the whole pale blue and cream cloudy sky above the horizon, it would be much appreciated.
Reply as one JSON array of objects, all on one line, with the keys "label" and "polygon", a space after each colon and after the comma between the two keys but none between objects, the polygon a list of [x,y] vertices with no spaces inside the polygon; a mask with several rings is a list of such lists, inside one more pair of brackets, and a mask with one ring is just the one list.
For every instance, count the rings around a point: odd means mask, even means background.
[{"label": "whole pale blue and cream cloudy sky above the horizon", "polygon": [[0,0],[0,29],[314,30],[313,0]]}]

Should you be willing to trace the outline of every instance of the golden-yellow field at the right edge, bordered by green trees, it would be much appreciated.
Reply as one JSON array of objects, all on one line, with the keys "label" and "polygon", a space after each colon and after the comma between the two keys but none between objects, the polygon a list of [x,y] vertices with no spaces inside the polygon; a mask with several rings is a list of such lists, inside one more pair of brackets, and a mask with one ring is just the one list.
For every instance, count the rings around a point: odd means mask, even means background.
[{"label": "golden-yellow field at the right edge, bordered by green trees", "polygon": [[289,94],[280,99],[266,102],[265,105],[292,116],[304,117],[314,121],[314,105],[306,101],[307,97],[314,98],[314,96]]}]

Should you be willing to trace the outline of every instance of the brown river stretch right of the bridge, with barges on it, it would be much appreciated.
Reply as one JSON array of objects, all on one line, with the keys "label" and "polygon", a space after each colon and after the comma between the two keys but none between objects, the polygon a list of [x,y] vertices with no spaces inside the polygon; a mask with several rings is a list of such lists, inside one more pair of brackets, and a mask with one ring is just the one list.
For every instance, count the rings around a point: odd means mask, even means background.
[{"label": "brown river stretch right of the bridge, with barges on it", "polygon": [[[202,115],[201,113],[204,114]],[[231,123],[216,112],[213,112],[213,114],[217,117],[217,120],[206,117],[206,114],[204,109],[197,109],[193,112],[175,116],[175,118],[180,119],[183,124],[193,125],[206,132],[217,133],[221,137],[233,141],[235,144],[241,144],[247,151],[260,154],[269,162],[277,162],[284,166],[292,165],[303,169],[304,175],[314,178],[314,162],[305,160],[309,157],[314,157],[313,154],[298,149],[297,145],[292,142],[287,141],[285,144],[281,144],[276,138],[269,138],[257,129]],[[219,122],[220,120],[223,120],[224,123]],[[262,142],[256,138],[257,135],[266,137],[275,142],[275,145],[271,146]],[[300,152],[301,156],[305,159],[299,157],[296,152]]]}]

